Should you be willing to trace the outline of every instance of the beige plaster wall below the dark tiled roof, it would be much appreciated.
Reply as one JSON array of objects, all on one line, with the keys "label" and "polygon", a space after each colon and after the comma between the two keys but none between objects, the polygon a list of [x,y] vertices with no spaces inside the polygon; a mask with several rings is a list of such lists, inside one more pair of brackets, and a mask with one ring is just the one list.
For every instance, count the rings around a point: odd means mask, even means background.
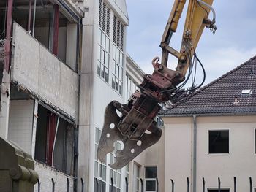
[{"label": "beige plaster wall below the dark tiled roof", "polygon": [[[233,177],[238,191],[249,191],[249,177],[256,179],[255,116],[197,117],[197,191],[222,188],[233,191]],[[193,124],[190,118],[164,118],[165,130],[165,191],[170,191],[170,179],[175,191],[186,191],[186,177],[192,181]],[[229,130],[229,154],[208,154],[208,131]],[[253,185],[255,186],[255,185]],[[192,190],[192,184],[191,184]]]}]

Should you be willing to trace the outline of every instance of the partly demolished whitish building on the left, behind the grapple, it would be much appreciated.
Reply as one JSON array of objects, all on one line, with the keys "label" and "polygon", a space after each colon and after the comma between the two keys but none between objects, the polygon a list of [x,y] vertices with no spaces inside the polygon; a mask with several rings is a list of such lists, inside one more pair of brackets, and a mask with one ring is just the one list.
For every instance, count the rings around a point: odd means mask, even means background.
[{"label": "partly demolished whitish building on the left, behind the grapple", "polygon": [[[105,163],[96,155],[105,107],[113,100],[125,104],[143,81],[126,50],[126,2],[42,0],[30,7],[22,0],[15,6],[0,3],[0,134],[34,158],[34,191],[157,191],[164,148],[149,148],[121,170],[108,166],[114,153]],[[5,23],[13,23],[10,70],[2,58]]]}]

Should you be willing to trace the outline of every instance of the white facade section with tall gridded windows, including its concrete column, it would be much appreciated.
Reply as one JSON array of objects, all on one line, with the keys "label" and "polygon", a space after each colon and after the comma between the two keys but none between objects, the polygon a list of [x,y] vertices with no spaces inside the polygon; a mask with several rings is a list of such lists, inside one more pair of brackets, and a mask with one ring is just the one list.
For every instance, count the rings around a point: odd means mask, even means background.
[{"label": "white facade section with tall gridded windows, including its concrete column", "polygon": [[113,154],[104,164],[96,153],[105,107],[112,100],[125,102],[127,7],[125,1],[84,5],[88,10],[83,18],[78,177],[85,180],[87,191],[110,191],[111,178],[115,191],[124,191],[125,169],[110,169]]}]

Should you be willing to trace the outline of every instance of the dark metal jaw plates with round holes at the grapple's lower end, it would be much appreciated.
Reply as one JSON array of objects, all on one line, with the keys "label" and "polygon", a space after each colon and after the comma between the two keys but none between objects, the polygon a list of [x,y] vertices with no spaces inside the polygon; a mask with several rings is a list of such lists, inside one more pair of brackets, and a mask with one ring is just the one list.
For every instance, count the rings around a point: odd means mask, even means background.
[{"label": "dark metal jaw plates with round holes at the grapple's lower end", "polygon": [[[143,114],[136,110],[135,106],[129,108],[121,105],[118,101],[112,101],[106,107],[97,157],[100,161],[105,161],[105,155],[113,153],[115,150],[114,143],[122,142],[124,147],[122,150],[116,151],[116,162],[109,164],[113,169],[121,169],[127,165],[147,147],[154,145],[162,135],[162,130],[157,127],[156,122],[147,118],[146,115],[143,117]],[[121,117],[116,110],[122,113]],[[136,124],[136,121],[141,119],[142,122]],[[147,129],[150,133],[145,132]]]}]

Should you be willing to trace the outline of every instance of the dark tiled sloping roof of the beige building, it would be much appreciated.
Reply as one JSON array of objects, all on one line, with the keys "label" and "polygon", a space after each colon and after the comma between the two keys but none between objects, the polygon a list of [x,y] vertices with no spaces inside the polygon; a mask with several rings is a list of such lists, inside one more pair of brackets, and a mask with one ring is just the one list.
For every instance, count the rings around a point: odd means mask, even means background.
[{"label": "dark tiled sloping roof of the beige building", "polygon": [[[242,94],[243,90],[250,93]],[[161,116],[256,113],[256,56],[196,91]]]}]

